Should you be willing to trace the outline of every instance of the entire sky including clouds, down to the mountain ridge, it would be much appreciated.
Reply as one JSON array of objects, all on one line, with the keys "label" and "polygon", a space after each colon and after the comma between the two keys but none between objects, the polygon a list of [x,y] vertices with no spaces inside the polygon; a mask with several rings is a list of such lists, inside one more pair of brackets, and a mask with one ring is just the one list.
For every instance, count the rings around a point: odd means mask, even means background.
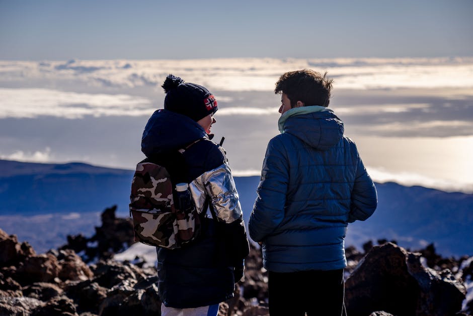
[{"label": "entire sky including clouds, down to the mountain ridge", "polygon": [[235,175],[260,172],[287,71],[377,181],[473,193],[473,2],[0,0],[0,159],[133,169],[173,73],[217,97]]}]

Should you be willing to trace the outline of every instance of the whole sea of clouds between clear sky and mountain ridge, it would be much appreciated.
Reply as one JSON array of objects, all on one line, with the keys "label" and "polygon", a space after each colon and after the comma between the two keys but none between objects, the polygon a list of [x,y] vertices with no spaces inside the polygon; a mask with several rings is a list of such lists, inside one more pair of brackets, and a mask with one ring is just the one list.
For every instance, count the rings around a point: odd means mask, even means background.
[{"label": "whole sea of clouds between clear sky and mountain ridge", "polygon": [[131,169],[172,73],[213,92],[230,165],[258,174],[274,84],[304,68],[335,80],[330,107],[373,178],[473,192],[473,57],[0,61],[0,158]]}]

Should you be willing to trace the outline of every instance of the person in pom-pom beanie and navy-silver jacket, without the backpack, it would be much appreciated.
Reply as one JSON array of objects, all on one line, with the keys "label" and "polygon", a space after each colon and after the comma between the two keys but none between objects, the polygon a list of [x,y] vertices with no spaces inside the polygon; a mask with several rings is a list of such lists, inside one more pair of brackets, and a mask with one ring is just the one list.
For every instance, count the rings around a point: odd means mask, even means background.
[{"label": "person in pom-pom beanie and navy-silver jacket, without the backpack", "polygon": [[[237,188],[223,148],[211,141],[215,97],[204,87],[169,75],[162,87],[164,109],[149,118],[141,139],[146,157],[171,157],[181,149],[184,163],[168,159],[170,170],[185,173],[201,232],[178,249],[156,247],[161,314],[217,315],[233,297],[250,248]],[[174,165],[173,165],[174,164]]]}]

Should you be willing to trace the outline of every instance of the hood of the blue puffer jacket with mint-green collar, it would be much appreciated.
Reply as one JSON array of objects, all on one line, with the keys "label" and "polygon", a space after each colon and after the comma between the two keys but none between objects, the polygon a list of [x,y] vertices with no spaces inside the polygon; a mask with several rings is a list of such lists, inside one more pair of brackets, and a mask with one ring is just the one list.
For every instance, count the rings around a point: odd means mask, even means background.
[{"label": "hood of the blue puffer jacket with mint-green collar", "polygon": [[281,133],[294,135],[310,147],[327,150],[343,137],[343,122],[324,106],[292,108],[279,118]]}]

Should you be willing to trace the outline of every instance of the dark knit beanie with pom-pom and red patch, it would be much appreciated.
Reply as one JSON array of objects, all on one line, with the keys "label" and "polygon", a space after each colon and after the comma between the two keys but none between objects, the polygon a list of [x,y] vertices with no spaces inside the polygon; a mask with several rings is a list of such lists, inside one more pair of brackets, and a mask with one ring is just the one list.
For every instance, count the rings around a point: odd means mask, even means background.
[{"label": "dark knit beanie with pom-pom and red patch", "polygon": [[162,87],[166,93],[164,108],[167,110],[198,121],[218,109],[215,97],[202,86],[184,83],[181,78],[170,74]]}]

